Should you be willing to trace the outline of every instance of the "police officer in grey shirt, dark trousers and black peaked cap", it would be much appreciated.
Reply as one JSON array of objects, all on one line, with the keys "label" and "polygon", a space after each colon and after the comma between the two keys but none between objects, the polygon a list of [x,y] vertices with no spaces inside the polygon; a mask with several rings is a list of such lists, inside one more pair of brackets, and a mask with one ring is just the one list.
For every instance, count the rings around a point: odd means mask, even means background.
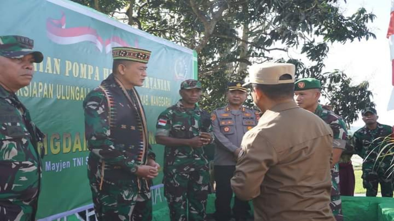
[{"label": "police officer in grey shirt, dark trousers and black peaked cap", "polygon": [[[215,134],[215,181],[216,221],[229,221],[231,218],[232,189],[230,180],[234,175],[236,158],[241,150],[243,134],[257,125],[259,111],[243,107],[247,97],[247,88],[243,82],[235,81],[228,84],[226,97],[228,104],[211,113],[212,126]],[[249,217],[249,202],[234,197],[232,212],[236,221]]]}]

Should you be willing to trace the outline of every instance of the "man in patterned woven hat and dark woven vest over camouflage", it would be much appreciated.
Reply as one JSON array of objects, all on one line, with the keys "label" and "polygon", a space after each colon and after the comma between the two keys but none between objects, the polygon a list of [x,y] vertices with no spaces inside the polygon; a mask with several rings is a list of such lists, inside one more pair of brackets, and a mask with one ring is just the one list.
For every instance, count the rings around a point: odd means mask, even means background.
[{"label": "man in patterned woven hat and dark woven vest over camouflage", "polygon": [[95,213],[99,221],[150,221],[151,179],[159,165],[135,87],[143,85],[151,52],[128,47],[112,52],[113,73],[83,104]]}]

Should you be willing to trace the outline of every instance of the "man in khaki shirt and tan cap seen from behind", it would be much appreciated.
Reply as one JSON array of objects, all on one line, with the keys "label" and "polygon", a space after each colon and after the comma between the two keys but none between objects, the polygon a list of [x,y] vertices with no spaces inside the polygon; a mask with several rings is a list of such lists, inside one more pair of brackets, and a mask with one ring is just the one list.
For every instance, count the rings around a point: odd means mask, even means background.
[{"label": "man in khaki shirt and tan cap seen from behind", "polygon": [[255,220],[335,221],[332,131],[294,102],[294,70],[269,64],[250,74],[253,100],[264,114],[243,136],[231,186],[238,198],[253,199]]}]

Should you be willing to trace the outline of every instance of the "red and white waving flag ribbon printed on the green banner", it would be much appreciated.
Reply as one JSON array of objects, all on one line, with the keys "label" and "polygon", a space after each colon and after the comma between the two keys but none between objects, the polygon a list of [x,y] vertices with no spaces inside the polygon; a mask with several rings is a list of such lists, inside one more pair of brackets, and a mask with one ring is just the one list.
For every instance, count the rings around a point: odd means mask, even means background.
[{"label": "red and white waving flag ribbon printed on the green banner", "polygon": [[[112,52],[113,47],[130,47],[121,37],[112,36],[104,41],[97,33],[96,29],[87,26],[66,28],[65,14],[61,13],[60,19],[48,18],[46,20],[46,35],[56,44],[76,44],[80,42],[91,42],[96,48],[105,53]],[[138,41],[134,43],[138,47]]]}]

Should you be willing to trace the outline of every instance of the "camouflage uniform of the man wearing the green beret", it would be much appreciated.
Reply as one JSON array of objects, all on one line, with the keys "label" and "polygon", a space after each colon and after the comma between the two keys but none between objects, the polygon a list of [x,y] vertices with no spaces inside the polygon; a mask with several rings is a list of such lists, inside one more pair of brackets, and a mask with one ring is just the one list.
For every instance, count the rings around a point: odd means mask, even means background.
[{"label": "camouflage uniform of the man wearing the green beret", "polygon": [[[346,124],[344,120],[336,115],[334,112],[323,109],[322,105],[318,105],[315,112],[324,122],[330,125],[333,130],[334,144],[336,146],[346,145]],[[340,198],[340,186],[339,186],[339,166],[338,163],[331,168],[331,203],[330,207],[333,211],[336,221],[342,221],[342,201]]]}]

